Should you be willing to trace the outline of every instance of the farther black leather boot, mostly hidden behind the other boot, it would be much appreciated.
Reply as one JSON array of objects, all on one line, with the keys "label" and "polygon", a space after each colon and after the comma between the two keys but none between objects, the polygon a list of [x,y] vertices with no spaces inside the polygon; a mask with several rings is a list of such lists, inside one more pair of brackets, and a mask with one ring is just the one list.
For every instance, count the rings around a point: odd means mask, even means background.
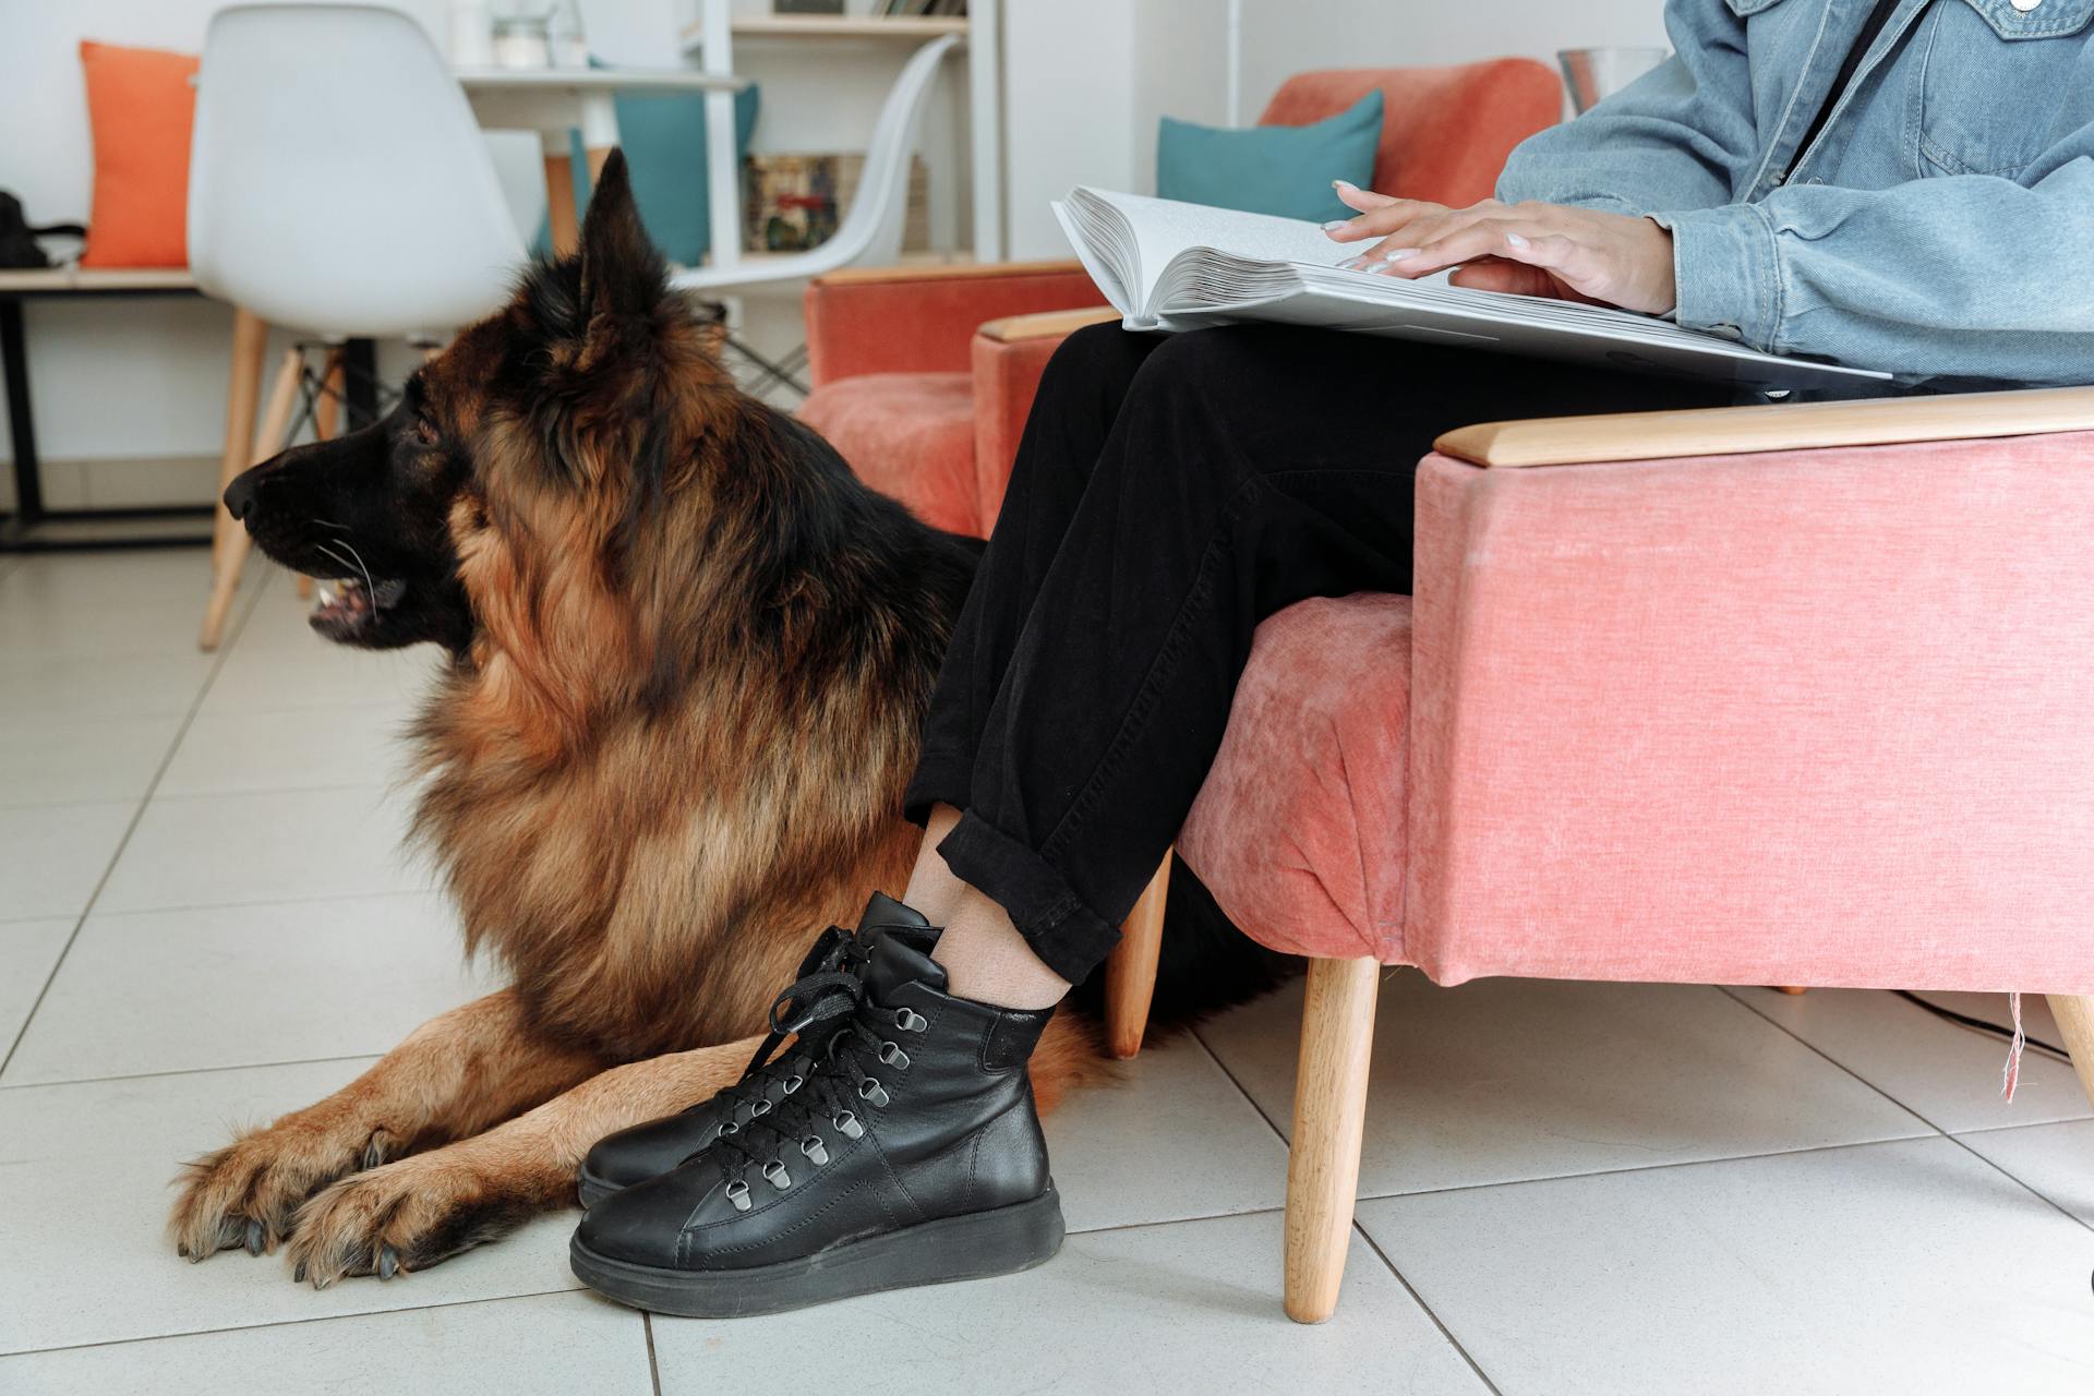
[{"label": "farther black leather boot, mostly hidden behind the other boot", "polygon": [[[794,984],[773,1000],[771,1036],[756,1049],[739,1082],[674,1116],[634,1124],[597,1141],[582,1159],[582,1180],[576,1189],[582,1206],[593,1208],[622,1187],[660,1178],[718,1139],[722,1124],[745,1124],[756,1109],[771,1109],[798,1090],[815,1065],[815,1053],[859,1007],[865,977],[863,938],[879,927],[919,936],[923,946],[938,938],[923,917],[875,892],[859,917],[856,933],[831,925],[815,940],[815,948],[800,961]],[[781,1053],[779,1044],[789,1036],[794,1044]]]}]

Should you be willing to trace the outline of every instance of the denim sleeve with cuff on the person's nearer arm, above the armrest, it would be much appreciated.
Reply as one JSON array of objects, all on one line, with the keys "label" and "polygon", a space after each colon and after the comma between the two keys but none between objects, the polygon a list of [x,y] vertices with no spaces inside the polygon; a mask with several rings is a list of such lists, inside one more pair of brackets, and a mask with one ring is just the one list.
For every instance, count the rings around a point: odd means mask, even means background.
[{"label": "denim sleeve with cuff on the person's nearer arm, above the armrest", "polygon": [[1652,218],[1673,232],[1679,324],[1772,354],[1926,379],[2084,383],[2094,364],[2094,126],[2029,186],[1989,174]]}]

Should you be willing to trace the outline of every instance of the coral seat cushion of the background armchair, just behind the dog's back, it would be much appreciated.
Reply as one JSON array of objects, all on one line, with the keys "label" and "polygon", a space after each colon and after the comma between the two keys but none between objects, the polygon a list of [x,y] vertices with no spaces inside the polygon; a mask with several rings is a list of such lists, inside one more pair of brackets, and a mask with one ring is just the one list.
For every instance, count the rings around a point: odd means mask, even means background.
[{"label": "coral seat cushion of the background armchair, just behind the dog's back", "polygon": [[800,421],[829,437],[859,479],[932,527],[980,530],[974,375],[867,373],[808,393]]}]

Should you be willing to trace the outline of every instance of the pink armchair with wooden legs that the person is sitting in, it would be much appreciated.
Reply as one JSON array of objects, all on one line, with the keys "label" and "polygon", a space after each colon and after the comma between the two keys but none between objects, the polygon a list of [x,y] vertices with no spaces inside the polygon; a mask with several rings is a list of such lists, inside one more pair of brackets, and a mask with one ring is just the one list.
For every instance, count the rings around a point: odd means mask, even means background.
[{"label": "pink armchair with wooden legs that the person is sitting in", "polygon": [[1382,965],[2046,992],[2094,1095],[2090,540],[2094,389],[1443,437],[1416,601],[1258,630],[1179,839],[1311,956],[1288,1312],[1336,1306]]}]

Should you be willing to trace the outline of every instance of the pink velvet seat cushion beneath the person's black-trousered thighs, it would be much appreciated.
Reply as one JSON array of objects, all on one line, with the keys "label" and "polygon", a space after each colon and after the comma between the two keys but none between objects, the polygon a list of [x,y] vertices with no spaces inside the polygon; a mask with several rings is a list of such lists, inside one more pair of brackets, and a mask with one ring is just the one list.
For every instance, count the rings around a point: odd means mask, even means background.
[{"label": "pink velvet seat cushion beneath the person's black-trousered thighs", "polygon": [[1248,936],[1403,956],[1411,599],[1361,592],[1258,626],[1179,856]]}]

